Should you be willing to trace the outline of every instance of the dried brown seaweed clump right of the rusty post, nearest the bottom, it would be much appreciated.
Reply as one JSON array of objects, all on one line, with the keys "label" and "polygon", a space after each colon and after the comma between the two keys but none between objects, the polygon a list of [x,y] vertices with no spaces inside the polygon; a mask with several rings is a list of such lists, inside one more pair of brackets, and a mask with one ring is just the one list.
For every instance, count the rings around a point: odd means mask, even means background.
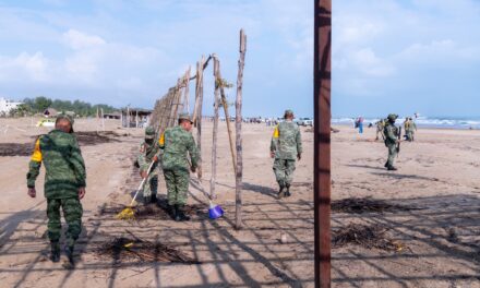
[{"label": "dried brown seaweed clump right of the rusty post, nearest the bottom", "polygon": [[368,249],[382,249],[385,251],[399,252],[405,249],[400,242],[393,241],[386,236],[387,228],[382,225],[350,224],[333,232],[332,242],[334,248],[346,244],[358,244]]}]

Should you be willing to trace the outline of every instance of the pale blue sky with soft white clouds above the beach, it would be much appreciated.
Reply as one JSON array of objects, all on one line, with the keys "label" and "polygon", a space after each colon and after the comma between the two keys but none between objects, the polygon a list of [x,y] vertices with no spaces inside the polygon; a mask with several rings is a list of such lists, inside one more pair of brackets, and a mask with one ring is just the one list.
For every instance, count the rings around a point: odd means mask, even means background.
[{"label": "pale blue sky with soft white clouds above the beach", "polygon": [[[480,116],[478,27],[479,0],[333,0],[333,116]],[[202,55],[235,84],[240,28],[243,113],[311,117],[311,0],[0,0],[0,97],[152,108]]]}]

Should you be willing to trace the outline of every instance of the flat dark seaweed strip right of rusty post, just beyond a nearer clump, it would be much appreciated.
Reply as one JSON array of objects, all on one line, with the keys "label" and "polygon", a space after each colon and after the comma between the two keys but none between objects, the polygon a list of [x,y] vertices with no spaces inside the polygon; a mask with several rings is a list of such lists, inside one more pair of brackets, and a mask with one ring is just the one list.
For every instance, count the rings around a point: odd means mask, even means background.
[{"label": "flat dark seaweed strip right of rusty post, just beyond a nearer clump", "polygon": [[332,202],[332,211],[339,213],[384,213],[384,212],[395,212],[395,211],[411,211],[416,209],[411,206],[398,205],[398,204],[388,204],[382,200],[373,200],[373,199],[343,199],[338,201]]}]

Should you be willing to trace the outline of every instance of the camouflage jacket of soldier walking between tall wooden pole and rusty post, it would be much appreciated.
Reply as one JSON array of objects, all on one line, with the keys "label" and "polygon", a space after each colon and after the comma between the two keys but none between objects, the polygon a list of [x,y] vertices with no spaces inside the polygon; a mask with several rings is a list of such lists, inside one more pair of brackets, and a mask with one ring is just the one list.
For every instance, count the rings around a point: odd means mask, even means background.
[{"label": "camouflage jacket of soldier walking between tall wooden pole and rusty post", "polygon": [[300,129],[295,122],[285,121],[275,128],[271,152],[275,152],[277,159],[296,159],[302,153]]}]

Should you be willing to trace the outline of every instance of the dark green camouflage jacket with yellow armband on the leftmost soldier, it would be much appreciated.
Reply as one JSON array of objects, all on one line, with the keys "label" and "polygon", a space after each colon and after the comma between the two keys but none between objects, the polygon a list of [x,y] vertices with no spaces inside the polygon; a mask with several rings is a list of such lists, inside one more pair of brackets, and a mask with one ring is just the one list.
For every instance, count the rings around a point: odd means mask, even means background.
[{"label": "dark green camouflage jacket with yellow armband on the leftmost soldier", "polygon": [[52,130],[37,139],[26,175],[28,188],[35,187],[41,163],[47,199],[76,197],[79,188],[85,187],[85,164],[74,134]]}]

